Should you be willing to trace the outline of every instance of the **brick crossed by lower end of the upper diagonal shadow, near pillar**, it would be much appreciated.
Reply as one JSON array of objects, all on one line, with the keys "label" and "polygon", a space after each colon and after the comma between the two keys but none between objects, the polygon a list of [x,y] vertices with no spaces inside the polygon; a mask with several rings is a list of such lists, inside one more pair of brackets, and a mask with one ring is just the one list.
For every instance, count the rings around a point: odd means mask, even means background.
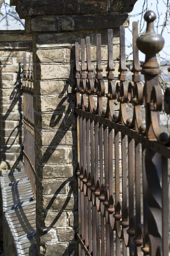
[{"label": "brick crossed by lower end of the upper diagonal shadow, near pillar", "polygon": [[36,148],[35,155],[41,163],[66,163],[66,149],[65,148]]}]

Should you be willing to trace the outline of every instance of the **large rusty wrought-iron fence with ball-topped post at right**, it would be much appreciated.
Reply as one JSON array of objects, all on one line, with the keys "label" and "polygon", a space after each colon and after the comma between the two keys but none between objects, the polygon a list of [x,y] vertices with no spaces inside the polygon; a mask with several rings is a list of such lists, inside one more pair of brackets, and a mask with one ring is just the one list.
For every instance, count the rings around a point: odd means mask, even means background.
[{"label": "large rusty wrought-iron fence with ball-topped post at right", "polygon": [[[168,164],[170,137],[159,127],[162,92],[156,53],[164,39],[154,32],[154,12],[144,15],[146,33],[133,23],[132,81],[127,82],[125,27],[120,27],[119,82],[113,71],[113,31],[108,30],[108,93],[102,76],[101,35],[97,35],[96,78],[90,38],[75,43],[79,193],[79,255],[168,256]],[[137,48],[138,47],[138,48]],[[141,70],[140,49],[146,55]],[[142,85],[140,72],[144,74]],[[94,99],[97,97],[97,103]],[[107,97],[107,106],[104,99]],[[119,102],[119,113],[115,102]],[[129,117],[127,105],[133,105]],[[117,105],[117,103],[116,103]],[[145,107],[142,119],[141,106]],[[164,108],[170,113],[170,90]],[[120,149],[121,148],[121,149]],[[128,179],[127,179],[128,177]],[[127,250],[127,248],[129,248]]]}]

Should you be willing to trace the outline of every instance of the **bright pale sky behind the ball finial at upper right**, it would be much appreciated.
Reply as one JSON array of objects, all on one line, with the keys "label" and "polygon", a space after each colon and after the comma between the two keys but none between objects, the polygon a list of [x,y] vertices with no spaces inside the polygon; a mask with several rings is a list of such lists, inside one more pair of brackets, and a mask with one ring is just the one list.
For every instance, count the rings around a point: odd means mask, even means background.
[{"label": "bright pale sky behind the ball finial at upper right", "polygon": [[[145,2],[145,4],[144,4]],[[167,11],[167,2],[168,0],[138,0],[133,8],[133,11],[129,13],[130,15],[130,26],[129,29],[125,29],[125,36],[126,36],[126,54],[130,54],[132,52],[132,48],[128,47],[130,44],[132,44],[132,33],[130,30],[132,30],[132,23],[133,21],[139,21],[138,29],[140,28],[140,22],[141,22],[141,16],[140,13],[142,12],[142,6],[144,4],[144,13],[146,12],[146,9],[152,10],[156,13],[157,19],[155,21],[155,31],[157,32],[157,25],[158,25],[158,34],[161,34],[162,30],[162,24],[164,23],[164,17],[165,13]],[[169,0],[170,5],[170,0]],[[158,18],[158,12],[159,12],[159,18]],[[138,15],[139,14],[139,15]],[[136,17],[135,17],[136,16]],[[145,32],[146,29],[146,22],[144,22],[144,18],[142,18],[141,23],[142,32]],[[169,29],[169,31],[168,31]],[[164,29],[163,37],[165,40],[164,48],[160,52],[160,61],[163,59],[170,60],[170,19],[169,19],[169,25],[167,25],[167,28]],[[169,54],[169,55],[168,55]],[[144,61],[144,54],[139,51],[139,59],[140,61]],[[163,59],[162,59],[163,58]],[[133,60],[133,55],[129,57],[129,60]]]}]

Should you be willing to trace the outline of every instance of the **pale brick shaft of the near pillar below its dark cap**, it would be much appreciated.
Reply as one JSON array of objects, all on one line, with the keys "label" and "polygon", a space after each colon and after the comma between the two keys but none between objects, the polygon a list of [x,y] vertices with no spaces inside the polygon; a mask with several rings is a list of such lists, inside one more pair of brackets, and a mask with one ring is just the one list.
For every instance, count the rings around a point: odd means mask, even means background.
[{"label": "pale brick shaft of the near pillar below its dark cap", "polygon": [[[40,255],[78,255],[75,239],[78,205],[74,43],[88,35],[95,42],[96,34],[97,31],[65,32],[60,36],[57,33],[35,33],[33,37],[37,245]],[[102,34],[102,43],[106,44],[107,31],[102,31]],[[115,31],[114,36],[117,72],[119,33]],[[95,50],[93,47],[94,67]],[[106,67],[105,45],[102,53],[103,67]]]}]

